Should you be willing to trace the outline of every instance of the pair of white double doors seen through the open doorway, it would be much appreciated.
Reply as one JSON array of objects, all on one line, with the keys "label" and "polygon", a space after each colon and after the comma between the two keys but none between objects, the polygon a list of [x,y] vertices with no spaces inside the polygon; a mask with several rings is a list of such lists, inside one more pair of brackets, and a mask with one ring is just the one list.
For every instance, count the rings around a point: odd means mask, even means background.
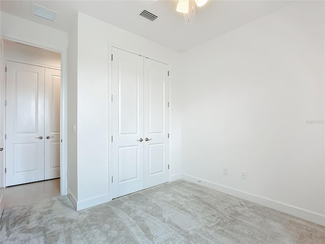
[{"label": "pair of white double doors seen through the open doorway", "polygon": [[6,63],[6,186],[60,177],[60,70]]}]

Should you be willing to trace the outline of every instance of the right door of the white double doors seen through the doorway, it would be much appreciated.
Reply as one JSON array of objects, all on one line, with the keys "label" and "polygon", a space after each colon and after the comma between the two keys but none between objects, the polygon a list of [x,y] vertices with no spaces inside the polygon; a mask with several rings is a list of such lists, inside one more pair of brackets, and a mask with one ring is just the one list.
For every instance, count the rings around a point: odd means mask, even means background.
[{"label": "right door of the white double doors seen through the doorway", "polygon": [[45,179],[60,177],[60,73],[45,68]]}]

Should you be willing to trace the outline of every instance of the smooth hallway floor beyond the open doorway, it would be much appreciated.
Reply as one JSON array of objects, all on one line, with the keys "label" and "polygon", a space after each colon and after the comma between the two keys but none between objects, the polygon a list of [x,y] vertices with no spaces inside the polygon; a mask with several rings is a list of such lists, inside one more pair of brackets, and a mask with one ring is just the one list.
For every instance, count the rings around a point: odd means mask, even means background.
[{"label": "smooth hallway floor beyond the open doorway", "polygon": [[25,205],[60,195],[60,178],[7,187],[4,189],[4,208]]}]

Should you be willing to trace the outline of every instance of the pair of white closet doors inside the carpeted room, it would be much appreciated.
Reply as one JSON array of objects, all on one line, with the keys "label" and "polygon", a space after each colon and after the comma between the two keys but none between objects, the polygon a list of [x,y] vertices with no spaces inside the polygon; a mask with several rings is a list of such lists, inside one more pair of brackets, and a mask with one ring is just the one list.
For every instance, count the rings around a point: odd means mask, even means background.
[{"label": "pair of white closet doors inside the carpeted room", "polygon": [[112,48],[112,198],[169,181],[168,65]]}]

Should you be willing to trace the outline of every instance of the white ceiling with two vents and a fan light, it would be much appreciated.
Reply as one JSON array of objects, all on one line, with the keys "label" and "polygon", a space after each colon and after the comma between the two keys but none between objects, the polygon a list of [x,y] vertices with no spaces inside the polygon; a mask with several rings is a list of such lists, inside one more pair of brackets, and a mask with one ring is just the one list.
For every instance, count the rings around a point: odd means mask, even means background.
[{"label": "white ceiling with two vents and a fan light", "polygon": [[[56,11],[55,21],[32,15],[32,3]],[[213,1],[196,9],[195,21],[186,24],[176,12],[178,1],[1,1],[1,11],[69,32],[82,12],[178,52],[230,32],[252,20],[285,7],[291,1]],[[158,16],[153,22],[139,16],[142,10]]]}]

